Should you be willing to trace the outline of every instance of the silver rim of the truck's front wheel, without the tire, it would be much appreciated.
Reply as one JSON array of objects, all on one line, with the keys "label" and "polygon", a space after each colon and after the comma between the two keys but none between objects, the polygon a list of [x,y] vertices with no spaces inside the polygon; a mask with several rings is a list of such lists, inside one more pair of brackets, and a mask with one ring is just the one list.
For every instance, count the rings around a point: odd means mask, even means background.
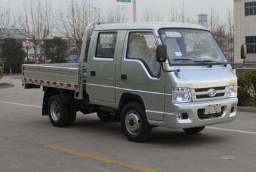
[{"label": "silver rim of the truck's front wheel, without the tire", "polygon": [[125,127],[127,131],[132,135],[136,135],[140,132],[141,119],[140,115],[136,111],[129,111],[126,113]]}]

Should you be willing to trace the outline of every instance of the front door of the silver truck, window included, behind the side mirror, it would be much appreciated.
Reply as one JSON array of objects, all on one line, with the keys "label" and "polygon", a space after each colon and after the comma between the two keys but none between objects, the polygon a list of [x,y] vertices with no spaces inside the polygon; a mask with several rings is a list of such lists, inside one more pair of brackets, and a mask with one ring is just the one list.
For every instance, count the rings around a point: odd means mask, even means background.
[{"label": "front door of the silver truck, window included, behind the side mirror", "polygon": [[159,42],[151,30],[127,31],[120,70],[120,89],[143,99],[149,120],[162,121],[164,72],[156,61]]}]

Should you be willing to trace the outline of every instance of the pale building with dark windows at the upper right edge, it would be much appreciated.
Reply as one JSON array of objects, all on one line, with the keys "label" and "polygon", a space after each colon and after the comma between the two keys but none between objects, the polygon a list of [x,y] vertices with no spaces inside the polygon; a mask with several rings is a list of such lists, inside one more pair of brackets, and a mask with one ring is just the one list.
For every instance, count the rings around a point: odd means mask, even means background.
[{"label": "pale building with dark windows at the upper right edge", "polygon": [[241,45],[247,46],[246,63],[256,63],[256,0],[234,0],[235,63],[240,59]]}]

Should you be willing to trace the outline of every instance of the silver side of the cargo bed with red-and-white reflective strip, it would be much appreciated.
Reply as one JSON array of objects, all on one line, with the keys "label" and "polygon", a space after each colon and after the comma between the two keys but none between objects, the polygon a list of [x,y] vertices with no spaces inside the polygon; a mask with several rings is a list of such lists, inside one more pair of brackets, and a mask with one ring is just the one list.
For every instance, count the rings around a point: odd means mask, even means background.
[{"label": "silver side of the cargo bed with red-and-white reflective strip", "polygon": [[[83,69],[86,71],[86,68]],[[78,63],[22,65],[22,82],[25,89],[41,85],[78,91],[81,86],[79,81]]]}]

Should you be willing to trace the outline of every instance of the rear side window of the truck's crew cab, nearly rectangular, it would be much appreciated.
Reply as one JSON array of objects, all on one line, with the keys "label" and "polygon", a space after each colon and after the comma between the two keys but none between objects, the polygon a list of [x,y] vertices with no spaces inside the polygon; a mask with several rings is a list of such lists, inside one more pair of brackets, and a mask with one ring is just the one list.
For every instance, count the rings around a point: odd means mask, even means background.
[{"label": "rear side window of the truck's crew cab, nearly rectangular", "polygon": [[100,33],[97,42],[96,57],[114,58],[116,47],[116,32]]}]

